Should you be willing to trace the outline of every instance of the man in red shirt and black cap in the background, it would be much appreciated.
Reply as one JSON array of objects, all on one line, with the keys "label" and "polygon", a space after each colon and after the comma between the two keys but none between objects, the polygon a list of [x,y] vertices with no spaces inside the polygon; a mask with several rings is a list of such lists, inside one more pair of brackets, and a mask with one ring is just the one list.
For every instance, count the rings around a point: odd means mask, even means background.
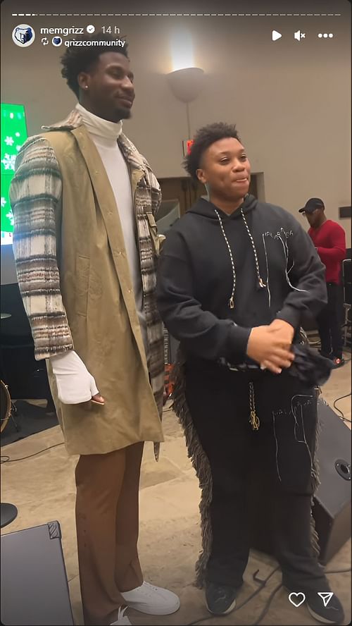
[{"label": "man in red shirt and black cap in the background", "polygon": [[308,219],[308,234],[318,250],[326,267],[327,306],[318,315],[318,330],[323,356],[334,361],[334,367],[344,365],[342,356],[342,334],[339,321],[339,286],[341,261],[346,258],[345,231],[337,222],[327,219],[324,202],[320,198],[310,198],[303,209],[299,209]]}]

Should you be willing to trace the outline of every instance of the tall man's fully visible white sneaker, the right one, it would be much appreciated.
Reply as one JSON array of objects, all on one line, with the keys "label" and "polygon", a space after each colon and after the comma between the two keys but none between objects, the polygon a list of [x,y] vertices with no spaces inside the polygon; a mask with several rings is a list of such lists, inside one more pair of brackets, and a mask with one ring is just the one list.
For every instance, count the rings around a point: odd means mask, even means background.
[{"label": "tall man's fully visible white sneaker, the right one", "polygon": [[141,587],[131,591],[124,591],[121,596],[127,606],[148,615],[170,615],[180,608],[180,600],[176,594],[162,587],[154,587],[149,582],[144,582]]}]

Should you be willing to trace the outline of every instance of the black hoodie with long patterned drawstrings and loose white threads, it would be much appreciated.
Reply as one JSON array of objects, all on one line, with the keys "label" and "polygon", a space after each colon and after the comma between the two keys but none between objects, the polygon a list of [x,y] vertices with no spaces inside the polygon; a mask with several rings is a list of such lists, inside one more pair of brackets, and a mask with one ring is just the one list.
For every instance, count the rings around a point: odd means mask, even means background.
[{"label": "black hoodie with long patterned drawstrings and loose white threads", "polygon": [[229,216],[201,198],[167,235],[157,297],[166,328],[186,354],[239,364],[248,360],[254,326],[279,318],[298,329],[304,312],[320,312],[325,267],[284,209],[247,195]]}]

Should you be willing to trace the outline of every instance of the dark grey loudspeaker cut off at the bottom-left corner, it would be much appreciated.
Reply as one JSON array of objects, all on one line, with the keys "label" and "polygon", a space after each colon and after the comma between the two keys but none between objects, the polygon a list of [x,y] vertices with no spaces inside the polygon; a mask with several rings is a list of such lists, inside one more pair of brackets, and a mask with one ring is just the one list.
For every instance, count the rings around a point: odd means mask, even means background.
[{"label": "dark grey loudspeaker cut off at the bottom-left corner", "polygon": [[1,535],[1,624],[73,625],[58,522]]}]

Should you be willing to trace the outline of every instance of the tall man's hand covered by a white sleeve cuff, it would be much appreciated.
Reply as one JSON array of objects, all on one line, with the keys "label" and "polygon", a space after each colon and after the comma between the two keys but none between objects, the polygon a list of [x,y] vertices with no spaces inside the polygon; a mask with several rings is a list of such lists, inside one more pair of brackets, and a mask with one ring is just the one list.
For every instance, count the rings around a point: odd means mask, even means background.
[{"label": "tall man's hand covered by a white sleeve cuff", "polygon": [[74,350],[51,357],[50,362],[56,378],[58,399],[63,404],[80,404],[89,400],[94,404],[104,404],[92,374]]}]

